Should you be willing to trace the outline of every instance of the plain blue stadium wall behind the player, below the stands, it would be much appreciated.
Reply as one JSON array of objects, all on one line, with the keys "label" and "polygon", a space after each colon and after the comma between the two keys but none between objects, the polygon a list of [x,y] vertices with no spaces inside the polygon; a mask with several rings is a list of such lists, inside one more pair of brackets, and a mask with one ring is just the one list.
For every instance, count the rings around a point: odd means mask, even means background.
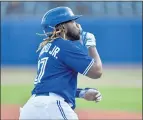
[{"label": "plain blue stadium wall behind the player, below the stands", "polygon": [[[103,63],[142,62],[142,20],[82,18],[85,31],[95,34]],[[40,17],[7,17],[1,21],[1,64],[36,64],[42,37]]]}]

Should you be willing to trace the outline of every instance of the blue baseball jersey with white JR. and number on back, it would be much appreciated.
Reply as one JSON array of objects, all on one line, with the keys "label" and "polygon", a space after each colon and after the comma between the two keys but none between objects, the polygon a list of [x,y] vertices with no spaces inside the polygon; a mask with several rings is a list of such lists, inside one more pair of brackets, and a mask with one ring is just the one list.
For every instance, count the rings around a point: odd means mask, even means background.
[{"label": "blue baseball jersey with white JR. and number on back", "polygon": [[86,75],[93,63],[79,41],[55,39],[40,51],[32,94],[56,93],[74,109],[77,75]]}]

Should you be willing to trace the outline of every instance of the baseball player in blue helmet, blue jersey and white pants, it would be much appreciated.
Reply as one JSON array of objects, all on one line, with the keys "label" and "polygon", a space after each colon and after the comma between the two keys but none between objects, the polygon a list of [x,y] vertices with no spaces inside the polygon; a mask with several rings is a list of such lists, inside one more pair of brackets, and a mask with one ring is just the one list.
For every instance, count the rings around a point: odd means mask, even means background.
[{"label": "baseball player in blue helmet, blue jersey and white pants", "polygon": [[97,89],[77,88],[77,75],[92,79],[102,75],[102,62],[93,34],[84,32],[68,7],[49,10],[42,18],[46,38],[37,52],[38,70],[32,96],[19,119],[78,119],[75,98],[99,102]]}]

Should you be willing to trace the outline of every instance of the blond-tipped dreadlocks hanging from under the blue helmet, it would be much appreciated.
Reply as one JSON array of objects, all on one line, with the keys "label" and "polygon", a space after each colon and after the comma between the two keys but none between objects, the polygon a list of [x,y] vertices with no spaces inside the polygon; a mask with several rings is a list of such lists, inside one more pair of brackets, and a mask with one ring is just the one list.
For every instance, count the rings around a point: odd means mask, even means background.
[{"label": "blond-tipped dreadlocks hanging from under the blue helmet", "polygon": [[[38,52],[39,50],[41,50],[47,43],[53,42],[56,38],[58,38],[58,34],[60,34],[61,32],[65,32],[64,30],[64,25],[63,24],[58,24],[56,25],[56,27],[51,27],[54,29],[53,32],[48,32],[45,34],[39,34],[37,33],[37,35],[43,36],[43,35],[49,35],[47,38],[43,39],[43,42],[40,43],[38,49],[36,50],[36,52]],[[64,34],[64,39],[65,39],[65,34]]]}]

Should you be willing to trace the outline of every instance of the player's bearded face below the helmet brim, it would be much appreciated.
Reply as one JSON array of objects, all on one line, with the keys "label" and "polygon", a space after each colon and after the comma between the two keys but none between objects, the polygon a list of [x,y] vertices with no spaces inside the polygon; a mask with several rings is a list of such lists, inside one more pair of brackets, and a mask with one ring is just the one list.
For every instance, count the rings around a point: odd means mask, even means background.
[{"label": "player's bearded face below the helmet brim", "polygon": [[80,39],[80,30],[75,21],[70,21],[65,24],[66,27],[66,35],[71,40],[79,40]]}]

